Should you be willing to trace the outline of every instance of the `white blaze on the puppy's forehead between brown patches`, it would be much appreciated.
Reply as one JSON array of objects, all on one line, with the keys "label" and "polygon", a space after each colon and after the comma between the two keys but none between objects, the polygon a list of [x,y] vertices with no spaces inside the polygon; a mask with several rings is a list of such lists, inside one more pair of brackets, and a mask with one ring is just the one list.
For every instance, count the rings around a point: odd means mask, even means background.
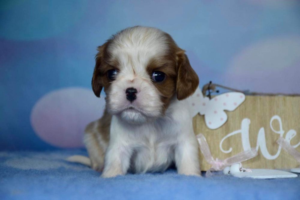
[{"label": "white blaze on the puppy's forehead between brown patches", "polygon": [[113,37],[108,51],[119,61],[121,70],[144,72],[149,60],[167,52],[163,31],[150,27],[127,28]]}]

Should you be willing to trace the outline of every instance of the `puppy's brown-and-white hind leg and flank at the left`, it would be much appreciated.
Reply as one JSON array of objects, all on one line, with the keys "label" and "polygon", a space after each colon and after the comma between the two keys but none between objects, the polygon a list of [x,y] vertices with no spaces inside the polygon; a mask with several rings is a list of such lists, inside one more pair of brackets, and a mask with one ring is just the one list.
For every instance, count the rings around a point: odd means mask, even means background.
[{"label": "puppy's brown-and-white hind leg and flank at the left", "polygon": [[96,171],[104,168],[104,155],[109,142],[111,116],[105,111],[102,118],[91,122],[85,129],[84,143]]}]

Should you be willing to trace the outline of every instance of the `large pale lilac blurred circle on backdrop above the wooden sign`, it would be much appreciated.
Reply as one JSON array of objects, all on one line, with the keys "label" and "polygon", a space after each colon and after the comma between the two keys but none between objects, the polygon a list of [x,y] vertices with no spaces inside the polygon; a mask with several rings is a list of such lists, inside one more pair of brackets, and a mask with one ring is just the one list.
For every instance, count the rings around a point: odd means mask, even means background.
[{"label": "large pale lilac blurred circle on backdrop above the wooden sign", "polygon": [[300,37],[271,37],[245,46],[224,73],[227,86],[254,92],[300,93]]}]

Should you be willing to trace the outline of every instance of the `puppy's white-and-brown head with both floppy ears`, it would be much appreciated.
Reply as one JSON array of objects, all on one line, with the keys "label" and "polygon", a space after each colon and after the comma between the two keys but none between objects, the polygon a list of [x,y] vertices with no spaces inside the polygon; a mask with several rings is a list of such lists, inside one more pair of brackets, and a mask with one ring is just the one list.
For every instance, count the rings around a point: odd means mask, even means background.
[{"label": "puppy's white-and-brown head with both floppy ears", "polygon": [[172,98],[183,100],[199,84],[184,50],[155,28],[135,26],[98,47],[92,88],[106,93],[107,110],[139,124],[164,115]]}]

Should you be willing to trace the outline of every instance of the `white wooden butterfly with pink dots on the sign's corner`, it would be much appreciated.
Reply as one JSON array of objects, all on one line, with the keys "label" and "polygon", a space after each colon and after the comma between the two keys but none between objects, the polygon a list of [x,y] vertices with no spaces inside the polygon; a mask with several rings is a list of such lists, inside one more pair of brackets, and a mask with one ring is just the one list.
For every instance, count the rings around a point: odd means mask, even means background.
[{"label": "white wooden butterfly with pink dots on the sign's corner", "polygon": [[[208,90],[209,91],[209,90]],[[197,88],[195,93],[189,97],[190,113],[192,116],[204,115],[205,124],[210,129],[217,129],[227,121],[226,111],[235,110],[245,100],[241,92],[226,92],[213,98],[203,96],[202,91]]]}]

